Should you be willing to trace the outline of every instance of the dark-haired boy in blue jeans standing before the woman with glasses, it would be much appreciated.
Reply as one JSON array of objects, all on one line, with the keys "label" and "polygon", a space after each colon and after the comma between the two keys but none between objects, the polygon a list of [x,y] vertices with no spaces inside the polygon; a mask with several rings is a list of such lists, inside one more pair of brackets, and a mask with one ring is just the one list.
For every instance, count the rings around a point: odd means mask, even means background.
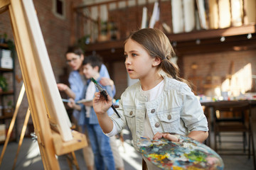
[{"label": "dark-haired boy in blue jeans standing before the woman with glasses", "polygon": [[[98,84],[100,84],[100,67],[102,66],[102,60],[97,55],[90,55],[85,57],[82,62],[83,74],[87,79],[95,79]],[[107,94],[113,97],[111,86],[103,86],[103,89],[107,91]],[[95,84],[92,81],[88,81],[82,90],[82,95],[80,99],[85,99],[82,105],[75,103],[73,99],[70,99],[68,106],[70,108],[75,108],[80,112],[79,125],[85,125],[87,129],[92,150],[95,156],[95,166],[97,170],[104,170],[105,168],[112,170],[114,167],[114,157],[112,154],[112,149],[110,147],[110,137],[107,137],[100,128],[97,121],[97,116],[92,108],[92,98],[98,89],[96,89]],[[112,109],[107,111],[109,115],[112,115]]]}]

